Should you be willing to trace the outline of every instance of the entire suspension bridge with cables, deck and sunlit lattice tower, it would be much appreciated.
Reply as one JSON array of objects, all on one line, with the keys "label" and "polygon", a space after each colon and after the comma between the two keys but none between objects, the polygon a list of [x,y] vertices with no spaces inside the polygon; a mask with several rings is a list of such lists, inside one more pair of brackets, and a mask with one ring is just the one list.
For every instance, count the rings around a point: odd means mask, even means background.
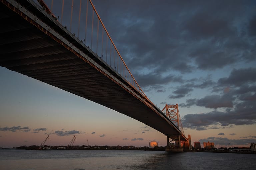
[{"label": "entire suspension bridge with cables, deck and sunlit lattice tower", "polygon": [[[172,141],[178,151],[191,147],[182,128],[178,104],[166,104],[160,110],[148,99],[91,0],[62,0],[57,7],[53,0],[49,6],[42,0],[0,2],[0,66],[158,130],[167,136],[166,151],[174,148]],[[55,15],[54,9],[59,15]]]}]

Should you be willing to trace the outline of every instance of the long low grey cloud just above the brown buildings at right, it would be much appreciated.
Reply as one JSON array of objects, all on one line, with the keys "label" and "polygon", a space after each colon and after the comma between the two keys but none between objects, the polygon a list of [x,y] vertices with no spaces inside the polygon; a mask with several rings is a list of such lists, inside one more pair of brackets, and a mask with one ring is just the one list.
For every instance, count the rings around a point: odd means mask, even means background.
[{"label": "long low grey cloud just above the brown buildings at right", "polygon": [[215,147],[218,145],[250,145],[251,142],[255,142],[255,139],[247,138],[247,139],[228,139],[226,137],[208,137],[206,139],[200,139],[199,142],[214,142]]}]

